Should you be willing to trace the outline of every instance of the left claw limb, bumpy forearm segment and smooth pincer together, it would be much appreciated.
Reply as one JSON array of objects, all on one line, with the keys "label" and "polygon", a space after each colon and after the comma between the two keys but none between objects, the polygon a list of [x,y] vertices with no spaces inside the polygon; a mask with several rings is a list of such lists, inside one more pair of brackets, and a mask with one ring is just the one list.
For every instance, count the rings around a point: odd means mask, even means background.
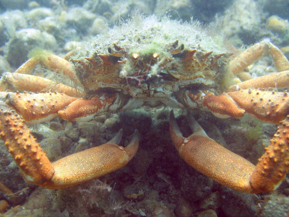
[{"label": "left claw limb, bumpy forearm segment and smooth pincer together", "polygon": [[[1,100],[6,99],[11,103],[10,93],[2,93],[0,97]],[[6,147],[20,168],[21,175],[29,183],[50,189],[77,185],[122,168],[138,149],[137,130],[127,147],[117,145],[121,139],[121,129],[106,144],[50,163],[29,128],[24,124],[24,120],[9,106],[9,103],[1,100],[0,137],[5,141]]]}]

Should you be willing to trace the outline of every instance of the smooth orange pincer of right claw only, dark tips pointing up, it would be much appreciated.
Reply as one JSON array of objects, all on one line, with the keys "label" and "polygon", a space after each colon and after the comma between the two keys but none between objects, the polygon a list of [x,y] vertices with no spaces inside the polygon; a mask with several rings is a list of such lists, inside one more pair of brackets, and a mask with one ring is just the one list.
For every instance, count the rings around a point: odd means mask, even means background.
[{"label": "smooth orange pincer of right claw only, dark tips pointing up", "polygon": [[170,133],[179,155],[190,166],[231,189],[250,192],[249,178],[255,166],[210,139],[201,126],[189,118],[193,134],[181,135],[173,111],[170,114]]}]

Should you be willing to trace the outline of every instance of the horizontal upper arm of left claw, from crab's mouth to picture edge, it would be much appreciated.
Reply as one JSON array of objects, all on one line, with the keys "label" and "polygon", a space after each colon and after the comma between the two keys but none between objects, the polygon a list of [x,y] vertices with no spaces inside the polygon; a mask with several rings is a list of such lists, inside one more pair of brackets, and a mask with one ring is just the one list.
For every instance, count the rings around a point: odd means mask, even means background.
[{"label": "horizontal upper arm of left claw, from crab's mouth to picture edge", "polygon": [[106,94],[91,100],[70,97],[64,93],[0,92],[2,100],[13,106],[25,124],[38,124],[59,115],[65,120],[85,122],[108,109],[115,111],[121,100],[118,94]]}]

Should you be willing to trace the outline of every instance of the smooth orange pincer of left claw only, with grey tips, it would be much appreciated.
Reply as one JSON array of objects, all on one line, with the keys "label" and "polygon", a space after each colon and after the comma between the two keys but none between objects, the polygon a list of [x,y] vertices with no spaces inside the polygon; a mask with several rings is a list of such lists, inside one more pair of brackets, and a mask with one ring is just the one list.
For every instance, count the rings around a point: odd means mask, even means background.
[{"label": "smooth orange pincer of left claw only, with grey tips", "polygon": [[117,145],[122,134],[123,129],[120,129],[110,141],[103,145],[53,162],[55,173],[51,180],[38,185],[49,189],[70,187],[124,167],[138,150],[138,131],[134,131],[129,145],[125,148]]}]

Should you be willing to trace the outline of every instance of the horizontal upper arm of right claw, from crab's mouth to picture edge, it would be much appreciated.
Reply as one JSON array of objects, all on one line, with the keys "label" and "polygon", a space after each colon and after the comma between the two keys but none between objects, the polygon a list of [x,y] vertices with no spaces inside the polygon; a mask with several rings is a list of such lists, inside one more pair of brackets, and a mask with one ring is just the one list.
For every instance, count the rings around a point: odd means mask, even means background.
[{"label": "horizontal upper arm of right claw, from crab's mouth to picture edge", "polygon": [[186,91],[184,99],[188,106],[196,103],[219,118],[240,118],[247,112],[264,122],[278,124],[289,114],[287,92],[245,89],[216,96],[210,91]]}]

